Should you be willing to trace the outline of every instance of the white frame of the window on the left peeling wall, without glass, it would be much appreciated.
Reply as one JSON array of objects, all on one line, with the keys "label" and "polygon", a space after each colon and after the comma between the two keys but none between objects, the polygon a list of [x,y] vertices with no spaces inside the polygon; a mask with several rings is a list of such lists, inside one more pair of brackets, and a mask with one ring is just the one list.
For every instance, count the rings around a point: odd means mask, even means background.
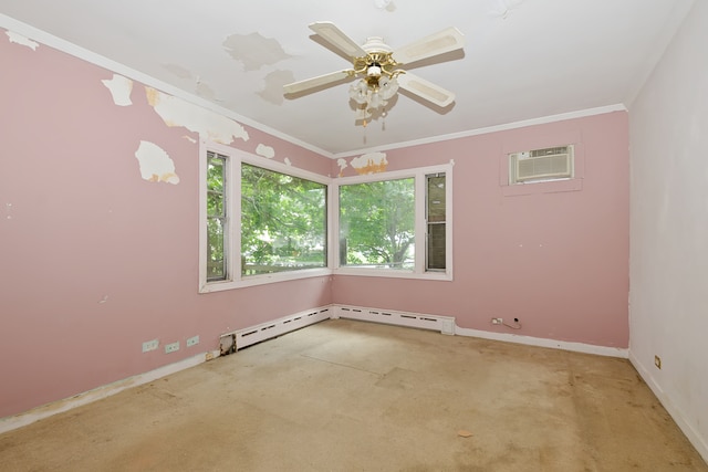
[{"label": "white frame of the window on the left peeling wall, without glass", "polygon": [[[292,281],[315,276],[326,276],[332,273],[332,179],[326,176],[310,172],[288,166],[282,162],[272,161],[263,157],[254,156],[240,149],[226,145],[210,143],[200,139],[199,149],[199,293],[219,292],[225,290],[240,289],[247,286],[262,285],[268,283]],[[207,153],[215,153],[226,157],[226,206],[230,208],[227,218],[230,220],[228,231],[225,233],[228,239],[226,265],[227,276],[225,280],[207,281]],[[325,241],[326,265],[316,269],[301,269],[295,271],[277,272],[270,274],[259,274],[242,276],[241,274],[241,162],[267,170],[285,174],[292,177],[311,180],[326,187],[326,225]]]}]

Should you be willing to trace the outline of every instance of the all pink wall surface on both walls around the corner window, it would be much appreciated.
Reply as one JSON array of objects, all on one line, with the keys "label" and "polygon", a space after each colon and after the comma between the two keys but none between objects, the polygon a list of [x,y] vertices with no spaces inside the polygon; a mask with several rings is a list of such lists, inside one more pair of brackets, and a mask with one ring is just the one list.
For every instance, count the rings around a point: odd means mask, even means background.
[{"label": "all pink wall surface on both walls around the corner window", "polygon": [[[166,126],[140,84],[133,105],[117,106],[101,82],[112,72],[51,48],[0,39],[0,418],[330,303],[456,316],[479,329],[518,316],[519,334],[627,346],[623,113],[388,151],[388,170],[455,159],[454,282],[319,277],[199,295],[197,134]],[[235,147],[263,144],[275,160],[339,174],[335,161],[246,128],[250,139]],[[504,196],[509,146],[569,134],[584,153],[581,191]],[[140,177],[140,140],[169,155],[179,183]],[[195,335],[201,343],[185,347]],[[143,354],[153,338],[181,349]]]}]

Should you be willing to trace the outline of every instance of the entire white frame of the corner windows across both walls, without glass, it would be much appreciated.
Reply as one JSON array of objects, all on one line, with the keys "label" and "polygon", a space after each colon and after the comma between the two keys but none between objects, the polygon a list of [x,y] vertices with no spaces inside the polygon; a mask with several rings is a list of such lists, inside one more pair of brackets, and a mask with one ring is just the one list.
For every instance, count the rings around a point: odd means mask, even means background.
[{"label": "entire white frame of the corner windows across both walls, without glass", "polygon": [[[228,248],[225,251],[227,258],[227,277],[218,281],[207,281],[207,153],[211,151],[226,159],[226,206],[230,208],[227,213],[230,223],[225,233],[228,238]],[[249,275],[243,277],[241,266],[241,162],[262,167],[268,170],[290,175],[298,178],[312,180],[326,186],[326,266],[316,269],[301,269],[295,271],[278,272],[271,274]],[[247,151],[232,148],[206,139],[199,140],[199,293],[221,292],[226,290],[263,285],[301,279],[321,277],[333,274],[353,276],[373,276],[388,279],[419,279],[452,281],[452,167],[454,162],[427,167],[417,167],[403,170],[385,171],[371,175],[332,178],[314,174],[282,162],[273,161],[264,157],[256,156]],[[426,219],[426,191],[427,176],[431,174],[445,174],[446,191],[446,269],[426,270],[427,256],[427,219]],[[413,271],[392,269],[347,268],[339,266],[340,258],[340,201],[341,185],[365,183],[382,180],[396,180],[402,178],[415,179],[415,232],[421,237],[415,242],[415,264]],[[230,183],[230,185],[228,185]]]}]

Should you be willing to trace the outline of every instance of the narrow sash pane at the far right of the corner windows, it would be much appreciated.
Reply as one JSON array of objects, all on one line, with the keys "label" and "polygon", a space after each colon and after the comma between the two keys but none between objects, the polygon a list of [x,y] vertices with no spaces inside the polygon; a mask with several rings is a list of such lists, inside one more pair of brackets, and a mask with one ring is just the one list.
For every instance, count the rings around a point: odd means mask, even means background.
[{"label": "narrow sash pane at the far right of the corner windows", "polygon": [[446,217],[446,190],[445,174],[433,174],[426,176],[427,195],[426,195],[426,220],[428,225],[428,244],[426,256],[427,271],[445,270],[446,238],[445,238],[445,217]]}]

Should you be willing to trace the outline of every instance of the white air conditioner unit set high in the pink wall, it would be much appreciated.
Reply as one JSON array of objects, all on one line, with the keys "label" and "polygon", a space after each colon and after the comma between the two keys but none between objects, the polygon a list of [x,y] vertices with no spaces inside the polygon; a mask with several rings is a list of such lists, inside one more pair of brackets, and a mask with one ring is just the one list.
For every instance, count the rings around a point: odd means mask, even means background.
[{"label": "white air conditioner unit set high in the pink wall", "polygon": [[573,177],[573,146],[556,146],[509,155],[509,183]]}]

